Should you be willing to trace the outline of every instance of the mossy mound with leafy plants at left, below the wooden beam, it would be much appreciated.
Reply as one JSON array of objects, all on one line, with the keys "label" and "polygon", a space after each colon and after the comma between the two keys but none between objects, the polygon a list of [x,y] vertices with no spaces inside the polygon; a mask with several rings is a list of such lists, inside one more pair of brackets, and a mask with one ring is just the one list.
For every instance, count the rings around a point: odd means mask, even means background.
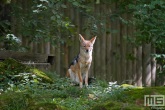
[{"label": "mossy mound with leafy plants at left, below the wooden beam", "polygon": [[27,67],[14,59],[0,62],[0,89],[3,91],[39,82],[52,83],[53,81],[44,72]]}]

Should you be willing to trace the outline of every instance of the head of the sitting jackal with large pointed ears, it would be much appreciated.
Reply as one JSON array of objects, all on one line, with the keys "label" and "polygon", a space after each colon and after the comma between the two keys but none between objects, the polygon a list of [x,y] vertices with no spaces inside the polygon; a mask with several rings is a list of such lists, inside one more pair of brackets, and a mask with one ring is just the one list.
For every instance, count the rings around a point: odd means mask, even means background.
[{"label": "head of the sitting jackal with large pointed ears", "polygon": [[95,43],[96,36],[91,40],[85,40],[81,34],[79,34],[80,38],[80,51],[86,54],[91,54],[93,50],[93,44]]}]

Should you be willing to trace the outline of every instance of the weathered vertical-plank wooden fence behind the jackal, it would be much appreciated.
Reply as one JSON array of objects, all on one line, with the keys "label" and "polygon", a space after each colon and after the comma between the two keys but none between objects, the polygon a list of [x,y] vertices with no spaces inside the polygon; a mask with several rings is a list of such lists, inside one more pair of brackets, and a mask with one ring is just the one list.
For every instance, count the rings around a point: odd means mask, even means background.
[{"label": "weathered vertical-plank wooden fence behind the jackal", "polygon": [[[51,70],[61,76],[65,76],[67,67],[74,56],[79,52],[79,36],[82,34],[86,39],[92,38],[90,29],[83,30],[83,26],[89,22],[87,16],[69,6],[67,16],[78,26],[77,35],[72,38],[73,45],[58,44],[53,47],[49,42],[31,43],[32,53],[54,54],[55,63]],[[129,83],[137,86],[155,86],[165,84],[156,80],[156,61],[151,57],[155,53],[151,44],[135,46],[128,42],[128,36],[134,38],[134,27],[121,22],[121,19],[112,20],[102,16],[102,13],[113,15],[117,5],[94,5],[95,13],[104,22],[99,24],[96,43],[94,44],[93,62],[90,76],[107,81],[118,81],[118,83]],[[131,15],[123,14],[122,19],[129,20]],[[101,31],[104,28],[106,31]],[[22,38],[22,44],[29,46],[28,39]]]}]

